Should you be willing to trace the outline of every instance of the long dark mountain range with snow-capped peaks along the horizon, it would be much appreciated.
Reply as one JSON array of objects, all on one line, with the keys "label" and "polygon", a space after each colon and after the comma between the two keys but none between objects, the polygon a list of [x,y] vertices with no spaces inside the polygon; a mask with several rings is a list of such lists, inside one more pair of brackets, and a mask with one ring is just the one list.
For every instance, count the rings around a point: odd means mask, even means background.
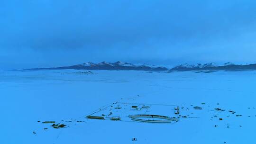
[{"label": "long dark mountain range with snow-capped peaks along the horizon", "polygon": [[76,69],[76,70],[135,70],[135,71],[148,71],[148,72],[181,72],[181,71],[196,71],[196,72],[215,72],[219,70],[224,71],[244,71],[244,70],[256,70],[256,64],[238,65],[234,63],[224,63],[218,65],[216,63],[205,64],[189,64],[184,63],[177,65],[171,69],[165,66],[152,65],[152,64],[132,64],[123,62],[101,62],[101,63],[81,63],[71,66],[52,67],[52,68],[33,68],[26,70],[64,70],[64,69]]}]

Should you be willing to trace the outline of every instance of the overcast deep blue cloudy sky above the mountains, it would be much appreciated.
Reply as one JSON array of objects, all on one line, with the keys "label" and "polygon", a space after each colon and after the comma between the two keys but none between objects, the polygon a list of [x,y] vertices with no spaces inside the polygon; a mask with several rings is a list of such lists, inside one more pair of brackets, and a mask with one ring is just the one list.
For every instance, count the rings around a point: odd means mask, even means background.
[{"label": "overcast deep blue cloudy sky above the mountains", "polygon": [[256,63],[256,0],[2,0],[0,68]]}]

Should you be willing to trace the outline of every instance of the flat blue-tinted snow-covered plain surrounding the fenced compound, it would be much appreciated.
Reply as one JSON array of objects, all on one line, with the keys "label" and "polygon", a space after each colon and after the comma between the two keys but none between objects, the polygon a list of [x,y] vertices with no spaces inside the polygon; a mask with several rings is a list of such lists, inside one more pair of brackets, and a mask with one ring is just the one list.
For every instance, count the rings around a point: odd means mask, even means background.
[{"label": "flat blue-tinted snow-covered plain surrounding the fenced compound", "polygon": [[[256,144],[255,71],[79,72],[1,71],[0,144]],[[85,118],[117,101],[178,105],[187,117],[171,124]],[[42,121],[67,126],[55,129]]]}]

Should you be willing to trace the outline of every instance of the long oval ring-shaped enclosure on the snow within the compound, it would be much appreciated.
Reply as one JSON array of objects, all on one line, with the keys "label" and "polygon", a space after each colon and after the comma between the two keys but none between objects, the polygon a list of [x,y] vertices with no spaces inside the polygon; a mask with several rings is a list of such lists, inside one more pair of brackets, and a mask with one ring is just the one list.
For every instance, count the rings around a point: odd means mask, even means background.
[{"label": "long oval ring-shaped enclosure on the snow within the compound", "polygon": [[[176,121],[175,117],[167,117],[167,116],[159,116],[159,115],[129,115],[132,120],[147,122],[147,123],[171,123],[172,121]],[[141,119],[141,118],[157,118],[164,120],[150,120],[150,119]]]}]

